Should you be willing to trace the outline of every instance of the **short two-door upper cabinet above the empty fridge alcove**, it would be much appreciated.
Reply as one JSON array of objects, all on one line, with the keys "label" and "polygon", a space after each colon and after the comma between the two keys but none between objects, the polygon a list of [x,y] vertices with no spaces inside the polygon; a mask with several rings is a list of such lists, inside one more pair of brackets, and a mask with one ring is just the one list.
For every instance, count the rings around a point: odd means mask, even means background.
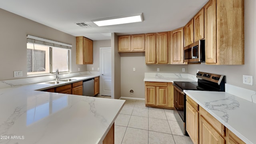
[{"label": "short two-door upper cabinet above the empty fridge alcove", "polygon": [[144,52],[144,35],[118,36],[118,52]]}]

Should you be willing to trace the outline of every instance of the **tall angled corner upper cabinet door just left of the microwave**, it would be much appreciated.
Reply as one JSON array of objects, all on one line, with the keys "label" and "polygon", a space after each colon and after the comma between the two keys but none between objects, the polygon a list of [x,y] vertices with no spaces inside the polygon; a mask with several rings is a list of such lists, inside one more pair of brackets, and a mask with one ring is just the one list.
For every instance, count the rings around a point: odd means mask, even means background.
[{"label": "tall angled corner upper cabinet door just left of the microwave", "polygon": [[171,64],[184,64],[183,28],[171,32]]}]

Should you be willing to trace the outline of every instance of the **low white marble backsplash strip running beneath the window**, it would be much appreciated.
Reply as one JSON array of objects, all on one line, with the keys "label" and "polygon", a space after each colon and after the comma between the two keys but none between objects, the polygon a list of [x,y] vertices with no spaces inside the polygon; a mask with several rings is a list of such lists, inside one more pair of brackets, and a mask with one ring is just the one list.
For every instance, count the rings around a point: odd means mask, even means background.
[{"label": "low white marble backsplash strip running beneath the window", "polygon": [[[64,78],[71,78],[75,76],[82,76],[86,74],[99,74],[99,72],[74,72],[74,73],[67,73],[67,74],[59,74],[60,79]],[[28,84],[35,84],[40,82],[48,82],[55,80],[56,76],[38,76],[38,77],[31,77],[31,78],[20,78],[14,80],[1,80],[0,81],[0,88],[10,88],[10,87],[18,87]]]}]

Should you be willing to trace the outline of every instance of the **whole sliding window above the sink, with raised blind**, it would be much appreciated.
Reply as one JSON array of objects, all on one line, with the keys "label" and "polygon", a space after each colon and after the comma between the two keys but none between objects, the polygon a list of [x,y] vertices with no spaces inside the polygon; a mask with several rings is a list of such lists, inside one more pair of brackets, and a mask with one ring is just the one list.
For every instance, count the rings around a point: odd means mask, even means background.
[{"label": "whole sliding window above the sink, with raised blind", "polygon": [[27,74],[50,74],[56,68],[69,72],[71,45],[38,38],[27,37]]}]

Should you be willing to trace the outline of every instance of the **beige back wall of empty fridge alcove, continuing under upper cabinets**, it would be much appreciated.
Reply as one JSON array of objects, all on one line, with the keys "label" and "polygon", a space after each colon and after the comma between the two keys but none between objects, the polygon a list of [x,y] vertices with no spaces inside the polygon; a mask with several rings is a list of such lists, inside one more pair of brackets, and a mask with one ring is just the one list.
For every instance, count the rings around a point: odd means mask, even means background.
[{"label": "beige back wall of empty fridge alcove, continuing under upper cabinets", "polygon": [[[127,52],[120,53],[121,56],[121,96],[130,98],[145,98],[145,72],[160,72],[168,73],[187,73],[187,65],[146,65],[145,52]],[[135,71],[133,71],[135,68]],[[185,68],[186,72],[182,72]],[[130,90],[134,90],[134,94],[130,94]]]}]

